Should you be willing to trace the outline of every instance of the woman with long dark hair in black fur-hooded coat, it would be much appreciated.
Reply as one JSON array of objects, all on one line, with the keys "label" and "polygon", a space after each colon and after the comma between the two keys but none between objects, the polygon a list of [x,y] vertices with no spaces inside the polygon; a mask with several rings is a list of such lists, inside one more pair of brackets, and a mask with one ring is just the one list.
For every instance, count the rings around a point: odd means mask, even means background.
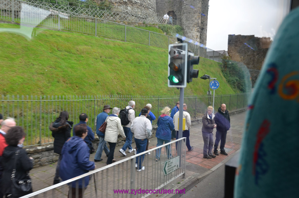
[{"label": "woman with long dark hair in black fur-hooded coat", "polygon": [[59,117],[49,126],[49,129],[52,131],[52,136],[54,137],[54,153],[59,154],[53,185],[61,182],[59,179],[59,166],[62,158],[61,149],[65,141],[71,137],[73,124],[74,122],[68,121],[68,112],[62,111]]}]

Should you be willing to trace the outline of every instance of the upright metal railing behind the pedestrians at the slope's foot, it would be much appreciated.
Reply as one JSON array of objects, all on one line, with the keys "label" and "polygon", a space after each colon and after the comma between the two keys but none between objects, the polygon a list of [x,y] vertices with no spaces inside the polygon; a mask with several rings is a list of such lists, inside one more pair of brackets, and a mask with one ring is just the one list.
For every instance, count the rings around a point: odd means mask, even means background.
[{"label": "upright metal railing behind the pedestrians at the slope's foot", "polygon": [[[239,109],[247,106],[249,94],[218,95],[215,96],[215,110],[225,103],[228,110]],[[4,118],[15,118],[17,125],[22,126],[27,133],[24,145],[40,145],[53,141],[48,126],[55,120],[61,111],[69,113],[69,120],[74,124],[79,123],[80,113],[89,116],[87,123],[94,131],[94,119],[102,112],[104,105],[109,104],[112,108],[125,108],[129,100],[134,100],[135,116],[147,104],[152,104],[152,112],[158,118],[165,106],[173,108],[179,101],[179,96],[19,96],[1,95],[0,113]],[[191,118],[202,117],[207,106],[212,105],[210,96],[185,96],[184,103]],[[156,124],[157,119],[152,124]]]}]

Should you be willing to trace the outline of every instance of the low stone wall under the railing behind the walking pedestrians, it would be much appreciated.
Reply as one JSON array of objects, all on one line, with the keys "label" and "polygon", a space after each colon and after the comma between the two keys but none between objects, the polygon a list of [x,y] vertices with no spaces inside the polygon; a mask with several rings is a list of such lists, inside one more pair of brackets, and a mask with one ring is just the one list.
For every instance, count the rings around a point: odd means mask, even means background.
[{"label": "low stone wall under the railing behind the walking pedestrians", "polygon": [[[240,112],[246,111],[246,108],[242,109],[237,109],[230,111],[230,115],[234,115]],[[191,120],[192,124],[191,125],[197,125],[202,123],[202,118],[193,118]],[[155,137],[157,130],[157,125],[153,126],[152,130],[152,136]],[[134,138],[132,139],[134,142]],[[96,136],[95,140],[93,141],[94,144],[94,149],[97,150],[97,145],[99,144],[99,138]],[[122,140],[121,137],[118,137],[118,142],[116,146],[123,145],[124,141]],[[53,143],[48,144],[48,145],[43,145],[43,146],[32,146],[32,147],[25,147],[24,148],[26,152],[28,153],[28,156],[33,157],[33,167],[40,167],[40,166],[46,166],[50,165],[52,163],[57,162],[59,155],[57,153],[54,153],[54,146]]]}]

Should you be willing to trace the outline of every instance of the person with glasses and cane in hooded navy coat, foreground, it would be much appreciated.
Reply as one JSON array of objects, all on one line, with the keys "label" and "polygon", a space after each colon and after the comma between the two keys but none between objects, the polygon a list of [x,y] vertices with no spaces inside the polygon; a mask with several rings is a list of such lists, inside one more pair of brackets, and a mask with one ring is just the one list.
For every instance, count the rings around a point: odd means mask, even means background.
[{"label": "person with glasses and cane in hooded navy coat, foreground", "polygon": [[[89,147],[84,141],[84,138],[88,134],[86,124],[76,125],[74,131],[76,135],[64,143],[61,151],[60,177],[63,181],[88,173],[89,170],[96,169],[94,162],[89,161]],[[77,197],[83,197],[84,190],[89,183],[89,176],[83,179],[72,182],[71,197],[76,197],[76,186],[79,188]]]}]

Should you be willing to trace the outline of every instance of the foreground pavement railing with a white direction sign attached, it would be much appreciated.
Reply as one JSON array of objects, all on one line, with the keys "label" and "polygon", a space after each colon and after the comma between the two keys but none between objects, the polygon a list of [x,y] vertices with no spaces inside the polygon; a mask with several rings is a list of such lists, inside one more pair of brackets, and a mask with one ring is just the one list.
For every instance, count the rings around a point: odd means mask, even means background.
[{"label": "foreground pavement railing with a white direction sign attached", "polygon": [[[68,196],[70,189],[67,184],[71,184],[71,182],[76,183],[78,195],[78,180],[85,177],[89,177],[90,180],[89,185],[84,191],[84,197],[147,197],[151,194],[165,194],[165,191],[157,190],[181,175],[184,177],[186,163],[185,139],[186,138],[180,138],[167,144],[163,144],[159,147],[128,157],[111,165],[92,170],[81,176],[77,176],[59,184],[33,192],[23,196],[22,198],[66,197]],[[156,161],[155,153],[160,149],[160,160]],[[147,152],[150,152],[151,154],[144,155]],[[170,152],[171,157],[167,156],[167,154],[169,154],[167,152]],[[144,156],[142,165],[145,167],[145,170],[138,172],[135,168],[135,162],[137,161],[136,159],[142,155]],[[167,163],[170,164],[170,162],[172,163],[172,166],[166,166]],[[84,181],[84,179],[82,181]],[[84,182],[82,186],[85,186]],[[141,191],[140,189],[144,191]],[[120,192],[120,190],[128,191]],[[133,193],[132,190],[134,190]],[[137,192],[137,190],[139,191]],[[176,193],[178,194],[178,192],[173,191],[173,194]],[[68,197],[71,197],[71,194],[69,194]]]}]

